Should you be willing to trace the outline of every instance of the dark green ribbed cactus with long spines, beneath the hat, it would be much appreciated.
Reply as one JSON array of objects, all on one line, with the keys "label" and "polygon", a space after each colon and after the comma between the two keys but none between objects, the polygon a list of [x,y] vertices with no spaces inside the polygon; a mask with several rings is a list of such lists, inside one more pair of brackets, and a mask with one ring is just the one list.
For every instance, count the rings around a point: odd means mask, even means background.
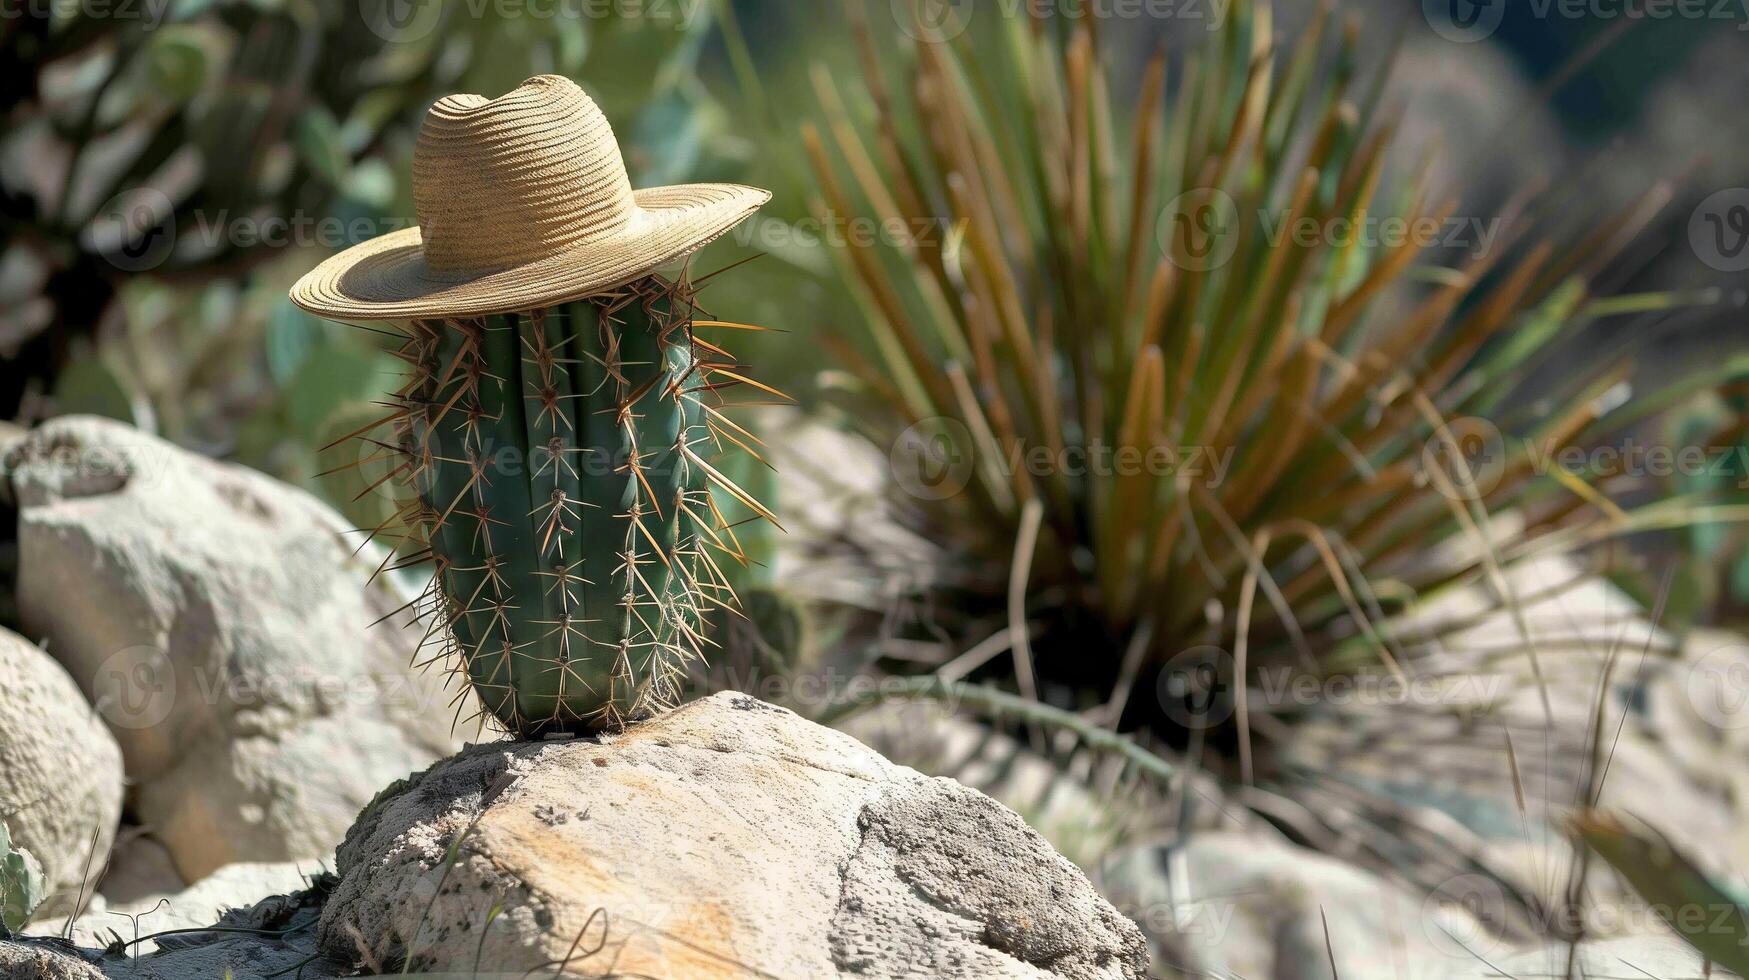
[{"label": "dark green ribbed cactus with long spines, beneath the hat", "polygon": [[411,324],[392,452],[436,562],[430,639],[516,735],[670,707],[703,612],[735,604],[722,562],[745,555],[717,497],[771,514],[710,462],[750,452],[722,392],[752,382],[694,326],[693,290],[654,276]]}]

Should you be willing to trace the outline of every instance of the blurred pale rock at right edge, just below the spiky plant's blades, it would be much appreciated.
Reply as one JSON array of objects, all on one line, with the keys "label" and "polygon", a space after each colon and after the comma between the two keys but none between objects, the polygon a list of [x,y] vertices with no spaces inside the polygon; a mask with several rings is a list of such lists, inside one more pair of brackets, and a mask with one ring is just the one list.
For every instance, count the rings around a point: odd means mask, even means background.
[{"label": "blurred pale rock at right edge, just below the spiky plant's blades", "polygon": [[[1417,686],[1382,691],[1408,696],[1287,705],[1301,709],[1293,738],[1259,775],[1268,800],[1293,800],[1282,819],[1319,850],[1352,854],[1418,892],[1487,868],[1504,884],[1497,924],[1522,936],[1567,931],[1546,910],[1565,906],[1576,856],[1564,821],[1576,800],[1639,816],[1684,852],[1749,866],[1739,772],[1749,642],[1684,642],[1571,558],[1520,562],[1506,583],[1518,621],[1473,584],[1394,626],[1413,640]],[[1607,768],[1593,768],[1600,691]],[[1606,873],[1586,878],[1586,900],[1637,903]],[[1599,915],[1586,934],[1623,934],[1637,920]]]}]

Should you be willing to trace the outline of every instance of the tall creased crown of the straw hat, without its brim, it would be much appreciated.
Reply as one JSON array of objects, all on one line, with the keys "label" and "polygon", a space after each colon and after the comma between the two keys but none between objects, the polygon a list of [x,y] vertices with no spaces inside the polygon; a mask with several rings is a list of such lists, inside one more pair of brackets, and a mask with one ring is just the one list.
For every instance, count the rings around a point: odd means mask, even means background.
[{"label": "tall creased crown of the straw hat, without its brim", "polygon": [[413,205],[425,268],[456,278],[612,238],[637,214],[614,128],[560,75],[437,100],[413,152]]}]

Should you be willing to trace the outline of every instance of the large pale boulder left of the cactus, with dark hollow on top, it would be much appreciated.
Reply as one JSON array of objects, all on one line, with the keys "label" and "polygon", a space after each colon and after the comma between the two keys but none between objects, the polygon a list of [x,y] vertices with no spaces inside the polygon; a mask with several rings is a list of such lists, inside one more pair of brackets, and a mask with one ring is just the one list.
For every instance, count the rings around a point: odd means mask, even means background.
[{"label": "large pale boulder left of the cactus, with dark hollow on top", "polygon": [[[101,418],[9,453],[19,614],[108,721],[185,880],[322,858],[381,786],[455,749],[406,602],[310,494]],[[390,616],[388,623],[371,628]]]}]

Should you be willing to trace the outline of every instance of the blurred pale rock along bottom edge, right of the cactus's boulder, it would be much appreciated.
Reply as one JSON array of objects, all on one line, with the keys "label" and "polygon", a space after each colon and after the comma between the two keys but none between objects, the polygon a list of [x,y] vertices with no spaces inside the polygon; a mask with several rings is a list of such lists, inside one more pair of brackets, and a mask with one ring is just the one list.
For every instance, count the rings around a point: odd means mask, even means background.
[{"label": "blurred pale rock along bottom edge, right of the cactus's boulder", "polygon": [[[1112,856],[1098,882],[1135,917],[1156,970],[1277,980],[1725,980],[1655,914],[1635,933],[1579,943],[1502,934],[1504,889],[1460,875],[1422,894],[1265,833],[1191,836]],[[1627,910],[1616,908],[1614,914]],[[1567,971],[1574,956],[1574,971]],[[1334,971],[1331,961],[1334,959]]]}]

